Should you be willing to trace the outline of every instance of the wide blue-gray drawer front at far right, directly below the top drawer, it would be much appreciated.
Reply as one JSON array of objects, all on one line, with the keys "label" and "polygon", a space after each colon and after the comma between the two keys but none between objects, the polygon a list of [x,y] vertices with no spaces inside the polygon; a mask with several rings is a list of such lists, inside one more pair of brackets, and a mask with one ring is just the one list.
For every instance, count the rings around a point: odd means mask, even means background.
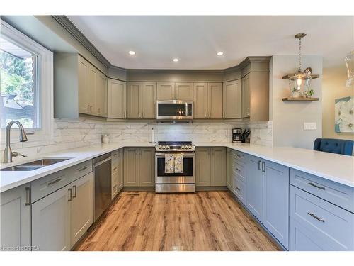
[{"label": "wide blue-gray drawer front at far right, directly below the top drawer", "polygon": [[[317,196],[290,186],[292,231],[307,231],[307,237],[325,250],[354,250],[354,214]],[[295,233],[290,242],[295,241]]]}]

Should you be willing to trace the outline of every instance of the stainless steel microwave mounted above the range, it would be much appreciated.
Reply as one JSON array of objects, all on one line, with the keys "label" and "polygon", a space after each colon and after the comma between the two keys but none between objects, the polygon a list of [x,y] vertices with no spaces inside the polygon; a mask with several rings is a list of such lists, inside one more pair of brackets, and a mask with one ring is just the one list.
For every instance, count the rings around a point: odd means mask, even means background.
[{"label": "stainless steel microwave mounted above the range", "polygon": [[159,120],[193,119],[193,101],[156,101],[156,118]]}]

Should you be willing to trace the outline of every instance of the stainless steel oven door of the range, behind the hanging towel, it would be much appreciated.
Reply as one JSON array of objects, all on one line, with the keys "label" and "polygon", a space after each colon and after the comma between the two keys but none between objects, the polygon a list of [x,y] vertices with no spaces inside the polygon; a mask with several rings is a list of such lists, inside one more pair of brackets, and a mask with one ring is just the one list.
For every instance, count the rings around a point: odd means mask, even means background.
[{"label": "stainless steel oven door of the range, behind the hanging towel", "polygon": [[[195,153],[183,153],[183,173],[165,173],[165,154],[155,153],[156,184],[195,184]],[[174,153],[168,153],[174,154]]]}]

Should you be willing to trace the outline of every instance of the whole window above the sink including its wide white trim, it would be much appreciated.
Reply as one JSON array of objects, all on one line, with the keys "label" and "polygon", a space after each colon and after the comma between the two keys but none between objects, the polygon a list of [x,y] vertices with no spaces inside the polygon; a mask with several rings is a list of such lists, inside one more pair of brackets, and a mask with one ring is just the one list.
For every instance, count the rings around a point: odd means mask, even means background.
[{"label": "whole window above the sink including its wide white trim", "polygon": [[1,142],[4,128],[13,120],[38,135],[33,140],[44,140],[43,135],[52,135],[53,53],[1,19],[0,23]]}]

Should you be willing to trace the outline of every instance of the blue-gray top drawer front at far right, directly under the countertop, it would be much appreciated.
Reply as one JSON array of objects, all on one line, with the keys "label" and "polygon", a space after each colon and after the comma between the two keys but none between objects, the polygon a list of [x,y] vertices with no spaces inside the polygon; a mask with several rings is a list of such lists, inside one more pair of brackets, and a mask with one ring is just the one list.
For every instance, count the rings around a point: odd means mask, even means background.
[{"label": "blue-gray top drawer front at far right, directly under the countertop", "polygon": [[290,184],[354,213],[354,188],[290,169]]}]

